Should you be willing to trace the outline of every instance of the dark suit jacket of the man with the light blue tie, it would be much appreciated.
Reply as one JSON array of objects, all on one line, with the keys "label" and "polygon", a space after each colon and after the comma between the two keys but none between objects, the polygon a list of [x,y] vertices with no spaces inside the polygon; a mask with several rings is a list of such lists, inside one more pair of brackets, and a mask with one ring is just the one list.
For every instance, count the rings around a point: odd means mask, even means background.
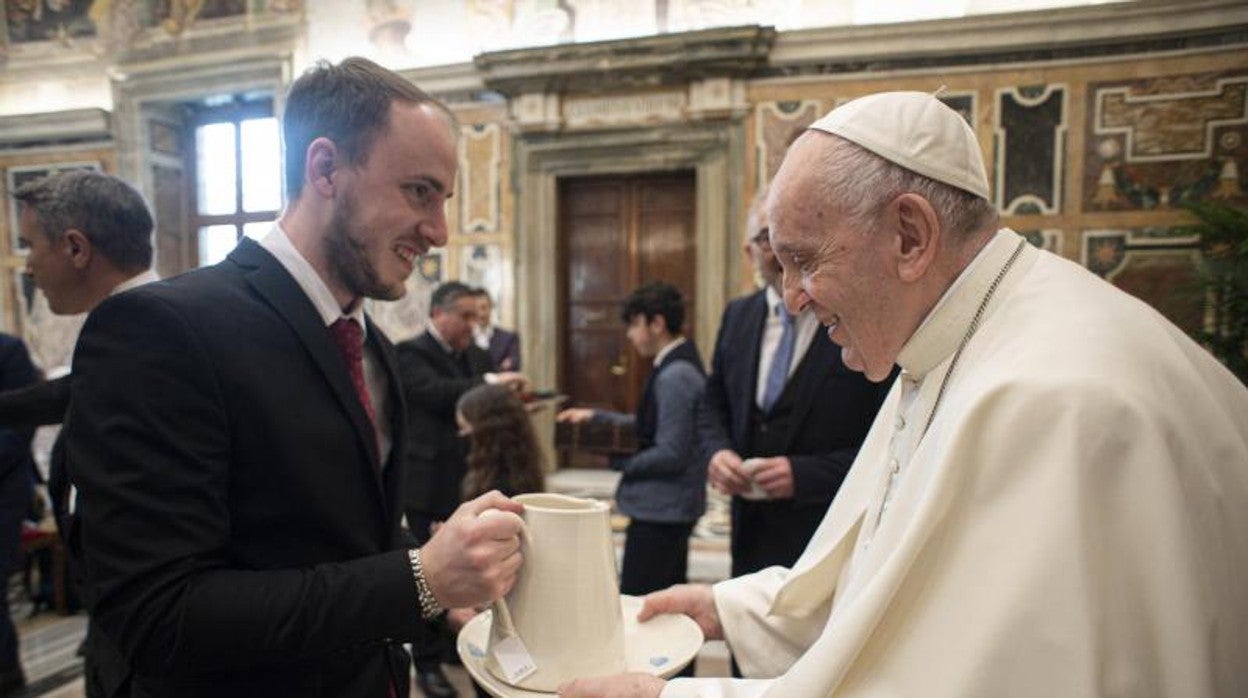
[{"label": "dark suit jacket of the man with the light blue tie", "polygon": [[[703,457],[730,448],[743,458],[756,456],[750,443],[750,415],[755,410],[759,352],[766,327],[766,291],[731,301],[724,310],[711,373],[698,411]],[[792,463],[794,498],[743,502],[734,498],[734,573],[743,572],[736,557],[760,562],[800,553],[840,488],[857,450],[880,410],[891,381],[871,383],[841,361],[840,347],[822,330],[785,385],[794,401],[782,455]],[[787,395],[792,392],[792,395]],[[741,519],[741,513],[746,513]],[[750,521],[759,513],[761,519]],[[764,531],[765,528],[765,531]],[[754,549],[741,549],[741,536],[756,537]],[[794,561],[789,561],[791,564]],[[745,561],[744,567],[754,567]]]}]

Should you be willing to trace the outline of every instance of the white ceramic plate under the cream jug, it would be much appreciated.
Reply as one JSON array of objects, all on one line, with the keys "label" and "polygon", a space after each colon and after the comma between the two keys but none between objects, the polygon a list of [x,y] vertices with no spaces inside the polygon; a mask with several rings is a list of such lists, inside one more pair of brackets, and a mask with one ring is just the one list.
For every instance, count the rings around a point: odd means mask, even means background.
[{"label": "white ceramic plate under the cream jug", "polygon": [[[645,672],[656,677],[670,677],[698,656],[703,646],[701,628],[688,616],[655,616],[645,623],[636,622],[641,599],[620,597],[624,614],[624,653],[629,672]],[[544,691],[515,688],[499,681],[485,668],[485,648],[489,646],[489,627],[493,613],[487,611],[459,631],[456,649],[464,668],[490,696],[498,698],[544,698],[554,696]]]}]

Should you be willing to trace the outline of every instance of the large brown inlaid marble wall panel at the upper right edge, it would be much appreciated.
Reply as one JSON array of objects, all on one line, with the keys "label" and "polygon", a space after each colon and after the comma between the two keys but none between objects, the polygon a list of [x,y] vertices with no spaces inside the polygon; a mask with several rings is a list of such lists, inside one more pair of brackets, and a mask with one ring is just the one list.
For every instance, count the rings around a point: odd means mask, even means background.
[{"label": "large brown inlaid marble wall panel at the upper right edge", "polygon": [[1086,211],[1248,204],[1248,71],[1088,85]]}]

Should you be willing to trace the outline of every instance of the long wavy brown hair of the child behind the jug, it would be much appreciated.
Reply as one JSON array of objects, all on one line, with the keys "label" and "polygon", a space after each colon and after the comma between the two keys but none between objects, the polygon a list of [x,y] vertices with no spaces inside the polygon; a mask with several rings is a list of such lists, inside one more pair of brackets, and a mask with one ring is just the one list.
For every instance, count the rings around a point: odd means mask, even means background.
[{"label": "long wavy brown hair of the child behind the jug", "polygon": [[464,499],[494,488],[504,494],[545,488],[542,447],[514,391],[502,385],[477,386],[459,397],[456,410],[472,427]]}]

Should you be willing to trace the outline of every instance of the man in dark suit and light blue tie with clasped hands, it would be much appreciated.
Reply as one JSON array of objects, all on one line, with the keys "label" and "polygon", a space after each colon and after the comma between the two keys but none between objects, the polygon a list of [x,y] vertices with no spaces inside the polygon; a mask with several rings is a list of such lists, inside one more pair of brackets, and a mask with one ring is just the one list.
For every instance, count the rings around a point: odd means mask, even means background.
[{"label": "man in dark suit and light blue tie with clasped hands", "polygon": [[733,496],[734,577],[792,566],[890,383],[846,368],[811,313],[787,315],[764,200],[750,207],[745,245],[764,287],[724,310],[699,411],[706,478]]}]

